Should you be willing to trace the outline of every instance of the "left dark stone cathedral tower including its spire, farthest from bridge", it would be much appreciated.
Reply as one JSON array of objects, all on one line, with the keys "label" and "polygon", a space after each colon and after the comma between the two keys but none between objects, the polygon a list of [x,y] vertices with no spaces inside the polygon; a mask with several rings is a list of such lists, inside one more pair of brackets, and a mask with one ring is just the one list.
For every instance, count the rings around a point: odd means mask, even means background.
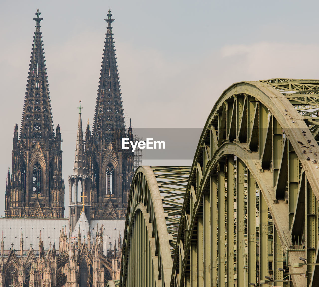
[{"label": "left dark stone cathedral tower including its spire, farthest from bridge", "polygon": [[20,135],[14,126],[12,170],[5,192],[6,217],[64,216],[60,126],[54,134],[39,9],[27,79]]}]

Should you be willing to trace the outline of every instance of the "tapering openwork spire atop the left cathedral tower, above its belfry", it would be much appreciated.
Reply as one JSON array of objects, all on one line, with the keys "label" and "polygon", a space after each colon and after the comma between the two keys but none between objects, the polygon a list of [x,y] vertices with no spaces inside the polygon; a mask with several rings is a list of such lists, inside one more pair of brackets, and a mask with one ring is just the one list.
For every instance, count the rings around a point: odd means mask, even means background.
[{"label": "tapering openwork spire atop the left cathedral tower, above its belfry", "polygon": [[40,31],[40,11],[35,13],[35,32],[28,73],[24,110],[22,114],[20,139],[37,139],[41,141],[45,135],[49,140],[54,138],[51,116],[50,97],[42,36]]}]

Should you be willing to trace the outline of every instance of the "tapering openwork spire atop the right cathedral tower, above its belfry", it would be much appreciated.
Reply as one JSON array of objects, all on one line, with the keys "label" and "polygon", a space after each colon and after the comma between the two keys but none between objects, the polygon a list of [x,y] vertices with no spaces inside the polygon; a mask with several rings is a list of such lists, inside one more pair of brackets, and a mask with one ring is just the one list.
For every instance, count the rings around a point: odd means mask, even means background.
[{"label": "tapering openwork spire atop the right cathedral tower, above its belfry", "polygon": [[105,143],[114,142],[116,132],[124,132],[124,115],[120,82],[118,77],[115,46],[112,34],[111,10],[108,11],[107,34],[104,42],[99,88],[97,94],[93,136],[94,140],[102,137]]}]

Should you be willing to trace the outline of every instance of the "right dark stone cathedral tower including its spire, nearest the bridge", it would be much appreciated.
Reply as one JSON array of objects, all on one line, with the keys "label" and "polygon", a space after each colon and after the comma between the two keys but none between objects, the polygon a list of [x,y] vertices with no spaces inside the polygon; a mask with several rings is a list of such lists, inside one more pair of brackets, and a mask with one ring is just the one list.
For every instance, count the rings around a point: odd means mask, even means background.
[{"label": "right dark stone cathedral tower including its spire, nearest the bridge", "polygon": [[133,177],[133,153],[122,149],[122,138],[133,140],[132,127],[125,130],[111,11],[103,49],[93,130],[85,139],[87,174],[91,180],[91,218],[125,218]]}]

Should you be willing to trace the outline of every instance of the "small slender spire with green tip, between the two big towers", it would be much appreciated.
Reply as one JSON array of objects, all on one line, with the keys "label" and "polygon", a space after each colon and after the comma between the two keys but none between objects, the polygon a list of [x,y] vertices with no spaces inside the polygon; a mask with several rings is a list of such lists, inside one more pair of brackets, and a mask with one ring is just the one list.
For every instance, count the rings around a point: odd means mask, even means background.
[{"label": "small slender spire with green tip, between the two big towers", "polygon": [[74,159],[74,175],[85,175],[86,167],[85,167],[85,152],[84,152],[84,141],[83,141],[83,131],[82,131],[82,118],[81,118],[81,101],[79,101],[80,107],[79,109],[79,122],[78,122],[78,135],[77,135],[77,145],[75,148],[75,159]]}]

